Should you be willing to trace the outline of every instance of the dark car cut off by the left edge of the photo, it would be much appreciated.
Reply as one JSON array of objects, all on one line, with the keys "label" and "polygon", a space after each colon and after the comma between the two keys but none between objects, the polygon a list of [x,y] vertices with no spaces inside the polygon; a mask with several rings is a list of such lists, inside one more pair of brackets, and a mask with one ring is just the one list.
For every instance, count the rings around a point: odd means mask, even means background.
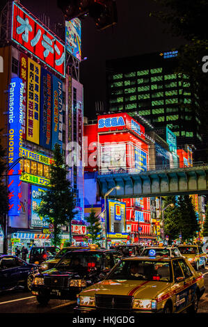
[{"label": "dark car cut off by the left edge of the photo", "polygon": [[27,278],[38,273],[38,266],[28,264],[15,255],[0,255],[0,292],[19,286],[27,288]]}]

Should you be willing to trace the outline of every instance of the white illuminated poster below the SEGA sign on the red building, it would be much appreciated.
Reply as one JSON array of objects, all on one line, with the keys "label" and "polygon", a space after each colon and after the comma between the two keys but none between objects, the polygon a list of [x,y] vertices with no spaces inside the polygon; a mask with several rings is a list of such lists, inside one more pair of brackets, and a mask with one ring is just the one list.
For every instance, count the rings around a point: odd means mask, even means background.
[{"label": "white illuminated poster below the SEGA sign on the red building", "polygon": [[125,143],[106,144],[101,147],[102,173],[116,173],[126,170],[126,145]]}]

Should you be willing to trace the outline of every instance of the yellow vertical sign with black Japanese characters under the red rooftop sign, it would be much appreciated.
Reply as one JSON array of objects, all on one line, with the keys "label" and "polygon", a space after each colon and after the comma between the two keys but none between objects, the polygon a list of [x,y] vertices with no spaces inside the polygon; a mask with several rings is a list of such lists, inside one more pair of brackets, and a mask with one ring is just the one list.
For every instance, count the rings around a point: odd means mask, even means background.
[{"label": "yellow vertical sign with black Japanese characters under the red rooftop sign", "polygon": [[28,58],[26,139],[39,144],[40,134],[40,65]]}]

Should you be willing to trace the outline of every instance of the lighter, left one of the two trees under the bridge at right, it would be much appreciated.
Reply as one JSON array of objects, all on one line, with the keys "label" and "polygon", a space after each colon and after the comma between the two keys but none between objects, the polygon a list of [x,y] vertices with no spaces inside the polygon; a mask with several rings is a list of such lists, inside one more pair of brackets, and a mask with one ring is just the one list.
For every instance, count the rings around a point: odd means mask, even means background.
[{"label": "lighter, left one of the two trees under the bridge at right", "polygon": [[[173,207],[168,205],[173,203]],[[169,243],[171,243],[174,239],[177,239],[179,236],[179,224],[178,224],[178,209],[176,205],[176,198],[175,196],[167,196],[163,202],[163,218],[164,218],[164,234],[168,235]]]}]

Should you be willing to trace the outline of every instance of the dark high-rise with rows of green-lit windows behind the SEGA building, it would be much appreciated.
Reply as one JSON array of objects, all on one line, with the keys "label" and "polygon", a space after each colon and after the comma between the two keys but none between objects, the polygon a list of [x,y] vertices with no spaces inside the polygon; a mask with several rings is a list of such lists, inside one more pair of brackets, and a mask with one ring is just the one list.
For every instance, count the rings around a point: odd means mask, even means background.
[{"label": "dark high-rise with rows of green-lit windows behind the SEGA building", "polygon": [[107,106],[111,113],[142,116],[154,126],[168,127],[178,145],[197,146],[199,98],[186,74],[175,74],[177,51],[106,61]]}]

